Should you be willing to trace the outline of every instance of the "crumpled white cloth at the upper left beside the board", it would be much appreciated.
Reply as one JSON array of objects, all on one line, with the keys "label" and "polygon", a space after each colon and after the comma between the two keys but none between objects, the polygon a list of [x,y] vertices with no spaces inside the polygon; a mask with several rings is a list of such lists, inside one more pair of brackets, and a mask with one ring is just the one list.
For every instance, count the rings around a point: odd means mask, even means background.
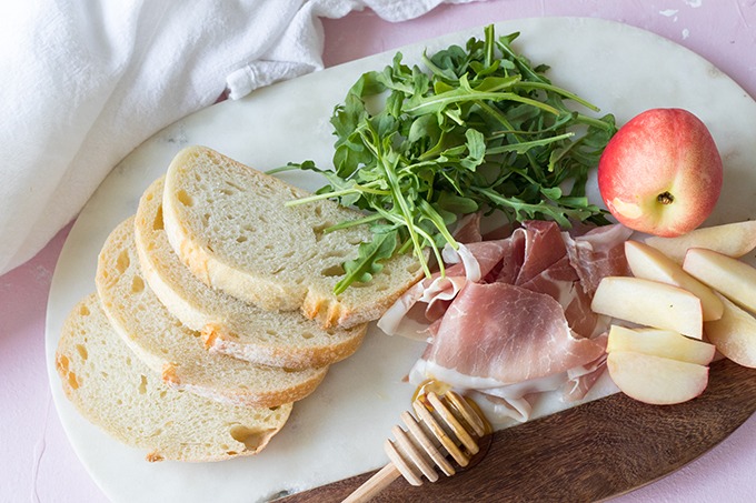
[{"label": "crumpled white cloth at the upper left beside the board", "polygon": [[319,18],[471,0],[30,0],[0,6],[0,274],[178,119],[322,68]]}]

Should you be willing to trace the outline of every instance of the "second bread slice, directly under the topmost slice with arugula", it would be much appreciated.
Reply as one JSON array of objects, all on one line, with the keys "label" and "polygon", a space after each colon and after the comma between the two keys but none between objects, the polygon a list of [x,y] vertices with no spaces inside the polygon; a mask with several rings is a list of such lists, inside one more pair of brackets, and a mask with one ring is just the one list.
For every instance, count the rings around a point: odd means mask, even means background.
[{"label": "second bread slice, directly under the topmost slice with arugula", "polygon": [[260,364],[305,369],[344,360],[359,348],[366,324],[322,329],[296,311],[265,311],[199,281],[166,237],[162,188],[161,178],[139,201],[135,223],[139,264],[162,304],[181,323],[201,331],[210,351]]}]

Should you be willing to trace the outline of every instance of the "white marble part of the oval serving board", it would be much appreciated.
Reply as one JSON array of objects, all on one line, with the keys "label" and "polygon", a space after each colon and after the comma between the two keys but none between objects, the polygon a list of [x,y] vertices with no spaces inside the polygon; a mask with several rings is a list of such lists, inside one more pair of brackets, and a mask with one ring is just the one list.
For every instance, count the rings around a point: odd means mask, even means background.
[{"label": "white marble part of the oval serving board", "polygon": [[[520,31],[520,52],[551,67],[551,80],[615,113],[624,123],[655,107],[682,107],[712,130],[723,154],[724,195],[709,224],[756,214],[756,103],[727,76],[688,50],[649,32],[597,19],[541,18],[500,22],[497,33]],[[421,51],[483,37],[483,28],[402,48],[405,60]],[[379,467],[381,443],[412,389],[402,378],[422,349],[372,328],[352,358],[295,406],[289,423],[256,457],[222,463],[147,463],[82,420],[62,394],[54,349],[73,304],[94,291],[97,254],[108,233],[136,212],[142,191],[176,152],[205,144],[258,169],[314,159],[329,165],[328,119],[351,83],[381,69],[394,51],[271,85],[240,101],[222,102],[161,131],[119,163],[81,212],[60,254],[47,313],[47,361],[58,413],[77,454],[115,502],[257,502]],[[284,179],[315,189],[315,175]],[[596,191],[594,190],[594,195]],[[605,390],[606,391],[606,390]],[[546,404],[541,413],[558,409]]]}]

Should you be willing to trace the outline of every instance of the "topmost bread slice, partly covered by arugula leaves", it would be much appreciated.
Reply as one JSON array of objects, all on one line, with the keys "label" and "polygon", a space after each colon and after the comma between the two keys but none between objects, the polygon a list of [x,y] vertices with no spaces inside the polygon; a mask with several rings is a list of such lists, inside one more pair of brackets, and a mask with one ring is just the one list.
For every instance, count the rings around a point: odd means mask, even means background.
[{"label": "topmost bread slice, partly covered by arugula leaves", "polygon": [[367,225],[324,232],[364,217],[334,201],[286,207],[308,195],[203,147],[179,152],[166,174],[163,222],[181,261],[206,284],[265,310],[301,309],[325,326],[380,315],[422,274],[411,254],[336,296],[341,264],[370,239]]}]

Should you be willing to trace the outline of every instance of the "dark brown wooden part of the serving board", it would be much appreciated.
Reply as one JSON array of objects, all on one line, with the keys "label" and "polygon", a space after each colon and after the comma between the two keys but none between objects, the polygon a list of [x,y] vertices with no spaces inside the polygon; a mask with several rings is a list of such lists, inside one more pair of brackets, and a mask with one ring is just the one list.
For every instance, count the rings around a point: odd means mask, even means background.
[{"label": "dark brown wooden part of the serving board", "polygon": [[[626,493],[689,463],[756,411],[756,369],[712,364],[706,392],[679,405],[618,393],[496,432],[486,457],[420,487],[398,479],[372,501],[587,502]],[[341,501],[375,472],[280,500]]]}]

